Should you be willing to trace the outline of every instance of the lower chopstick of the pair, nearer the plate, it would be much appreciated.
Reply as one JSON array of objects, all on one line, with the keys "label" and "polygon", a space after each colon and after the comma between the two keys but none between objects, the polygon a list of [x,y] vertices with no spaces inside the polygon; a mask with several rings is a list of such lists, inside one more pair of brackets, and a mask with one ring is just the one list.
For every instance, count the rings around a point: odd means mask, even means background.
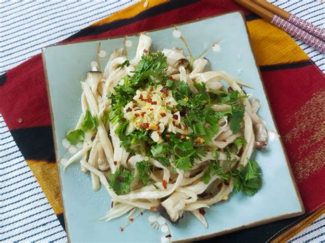
[{"label": "lower chopstick of the pair, nearer the plate", "polygon": [[269,12],[269,10],[266,10],[265,8],[261,7],[260,5],[252,1],[249,0],[234,0],[234,1],[236,1],[243,7],[248,8],[248,10],[251,10],[255,14],[258,14],[266,21],[269,21],[269,23],[272,23],[277,27],[279,27],[280,29],[286,31],[288,34],[291,34],[292,36],[296,36],[296,38],[302,40],[306,44],[309,44],[311,47],[314,47],[315,49],[321,51],[322,53],[325,53],[325,42],[320,40],[316,36],[309,34],[304,29],[301,29],[300,27],[293,25],[289,21],[286,21],[284,18],[281,18],[277,14]]}]

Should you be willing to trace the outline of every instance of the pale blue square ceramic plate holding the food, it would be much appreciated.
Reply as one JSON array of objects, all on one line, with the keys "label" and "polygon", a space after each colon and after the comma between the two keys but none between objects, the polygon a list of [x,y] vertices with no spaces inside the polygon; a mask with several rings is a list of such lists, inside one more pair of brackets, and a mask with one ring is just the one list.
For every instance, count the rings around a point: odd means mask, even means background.
[{"label": "pale blue square ceramic plate holding the food", "polygon": [[[210,60],[210,68],[215,71],[224,70],[254,87],[245,91],[261,101],[258,114],[265,120],[268,129],[276,131],[242,14],[233,12],[186,23],[180,25],[179,30],[194,56],[202,53],[211,43],[222,40],[219,46],[205,55]],[[173,31],[174,28],[169,27],[147,33],[152,38],[152,48],[184,49],[180,39],[173,36]],[[128,42],[129,45],[132,43],[132,47],[128,47],[128,57],[132,59],[138,37],[129,36],[128,40],[131,41]],[[71,156],[62,146],[62,139],[67,131],[74,129],[80,116],[80,81],[85,79],[86,73],[91,70],[91,62],[97,58],[99,42],[101,49],[108,53],[101,58],[104,65],[109,53],[122,47],[123,38],[63,44],[43,49],[58,161],[62,157]],[[280,139],[277,136],[271,138],[267,149],[254,153],[253,158],[263,170],[263,188],[254,196],[238,193],[230,196],[230,200],[207,209],[208,229],[190,214],[186,214],[178,225],[168,222],[172,241],[207,238],[304,212]],[[150,226],[148,217],[153,215],[151,219],[154,219],[154,216],[158,216],[156,212],[145,212],[123,232],[119,228],[127,221],[125,216],[111,222],[99,221],[110,208],[110,196],[103,187],[99,192],[91,189],[91,177],[80,170],[80,164],[73,164],[65,172],[60,167],[60,179],[71,242],[159,242],[167,235]],[[166,227],[161,229],[164,231]]]}]

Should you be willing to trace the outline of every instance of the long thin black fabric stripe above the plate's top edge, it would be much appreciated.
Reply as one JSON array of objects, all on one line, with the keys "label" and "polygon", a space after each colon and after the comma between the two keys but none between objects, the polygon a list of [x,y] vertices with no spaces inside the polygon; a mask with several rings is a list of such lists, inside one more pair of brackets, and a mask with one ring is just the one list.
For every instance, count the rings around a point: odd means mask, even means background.
[{"label": "long thin black fabric stripe above the plate's top edge", "polygon": [[80,38],[84,36],[93,36],[93,35],[101,34],[111,29],[117,29],[124,25],[130,25],[137,21],[141,21],[145,18],[162,14],[163,12],[169,12],[176,8],[182,8],[186,5],[191,5],[192,3],[195,3],[197,1],[199,0],[186,0],[186,1],[172,0],[166,3],[162,3],[160,5],[156,5],[152,8],[149,8],[148,10],[145,10],[132,18],[123,18],[104,25],[87,27],[86,29],[82,29],[81,31],[77,32],[73,36],[70,36],[69,38],[67,38],[67,40],[73,40],[75,38]]}]

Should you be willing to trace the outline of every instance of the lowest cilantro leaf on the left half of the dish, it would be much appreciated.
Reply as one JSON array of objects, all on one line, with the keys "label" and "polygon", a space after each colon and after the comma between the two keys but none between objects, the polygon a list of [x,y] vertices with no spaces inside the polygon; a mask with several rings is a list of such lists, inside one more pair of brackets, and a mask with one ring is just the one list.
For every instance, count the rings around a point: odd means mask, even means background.
[{"label": "lowest cilantro leaf on the left half of the dish", "polygon": [[114,174],[110,175],[110,188],[116,192],[116,194],[127,194],[131,190],[131,182],[134,179],[134,175],[126,168],[118,168]]}]

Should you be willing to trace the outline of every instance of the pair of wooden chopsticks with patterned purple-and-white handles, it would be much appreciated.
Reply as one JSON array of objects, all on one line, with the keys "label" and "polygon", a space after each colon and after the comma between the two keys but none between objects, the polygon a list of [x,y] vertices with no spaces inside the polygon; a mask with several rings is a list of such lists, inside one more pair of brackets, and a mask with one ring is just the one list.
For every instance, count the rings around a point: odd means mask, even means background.
[{"label": "pair of wooden chopsticks with patterned purple-and-white handles", "polygon": [[265,0],[235,0],[248,10],[258,14],[269,23],[325,53],[325,31],[315,27],[294,14],[282,10]]}]

